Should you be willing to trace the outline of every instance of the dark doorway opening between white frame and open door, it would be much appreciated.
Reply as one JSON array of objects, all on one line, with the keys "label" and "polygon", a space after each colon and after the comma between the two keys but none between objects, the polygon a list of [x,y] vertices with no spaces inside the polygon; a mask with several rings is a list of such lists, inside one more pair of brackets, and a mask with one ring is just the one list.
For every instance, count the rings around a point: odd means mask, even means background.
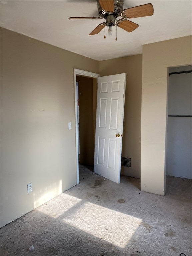
[{"label": "dark doorway opening between white frame and open door", "polygon": [[76,76],[79,164],[94,165],[97,87],[95,78]]}]

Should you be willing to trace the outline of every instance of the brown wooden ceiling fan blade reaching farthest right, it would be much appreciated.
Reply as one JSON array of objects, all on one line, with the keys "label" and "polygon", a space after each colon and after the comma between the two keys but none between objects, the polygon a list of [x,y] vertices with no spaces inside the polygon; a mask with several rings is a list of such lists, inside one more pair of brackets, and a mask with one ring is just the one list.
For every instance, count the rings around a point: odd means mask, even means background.
[{"label": "brown wooden ceiling fan blade reaching farthest right", "polygon": [[145,16],[153,15],[153,5],[152,4],[143,4],[136,7],[125,9],[121,12],[123,18],[139,18]]}]

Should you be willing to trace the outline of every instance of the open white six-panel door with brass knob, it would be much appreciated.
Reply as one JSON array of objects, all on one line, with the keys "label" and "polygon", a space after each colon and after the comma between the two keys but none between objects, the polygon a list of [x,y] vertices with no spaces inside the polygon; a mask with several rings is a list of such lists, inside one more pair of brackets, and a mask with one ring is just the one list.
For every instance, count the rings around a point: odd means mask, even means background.
[{"label": "open white six-panel door with brass knob", "polygon": [[120,182],[126,74],[98,78],[94,172]]}]

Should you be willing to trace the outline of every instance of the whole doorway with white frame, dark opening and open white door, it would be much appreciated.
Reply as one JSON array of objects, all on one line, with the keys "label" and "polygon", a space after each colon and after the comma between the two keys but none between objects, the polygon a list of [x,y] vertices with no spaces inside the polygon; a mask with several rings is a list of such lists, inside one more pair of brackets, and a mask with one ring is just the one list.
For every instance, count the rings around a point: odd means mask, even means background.
[{"label": "whole doorway with white frame, dark opening and open white door", "polygon": [[98,78],[98,74],[87,73],[75,70],[74,78],[77,184],[79,162],[94,166],[94,173],[120,183],[126,74]]}]

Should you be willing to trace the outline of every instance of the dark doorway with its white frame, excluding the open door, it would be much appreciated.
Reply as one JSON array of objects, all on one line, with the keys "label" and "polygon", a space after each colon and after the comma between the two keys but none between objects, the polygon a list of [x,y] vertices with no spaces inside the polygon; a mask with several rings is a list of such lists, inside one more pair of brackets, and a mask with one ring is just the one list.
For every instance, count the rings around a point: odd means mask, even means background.
[{"label": "dark doorway with its white frame, excluding the open door", "polygon": [[74,69],[77,184],[79,164],[93,166],[94,163],[98,77],[99,74]]}]

